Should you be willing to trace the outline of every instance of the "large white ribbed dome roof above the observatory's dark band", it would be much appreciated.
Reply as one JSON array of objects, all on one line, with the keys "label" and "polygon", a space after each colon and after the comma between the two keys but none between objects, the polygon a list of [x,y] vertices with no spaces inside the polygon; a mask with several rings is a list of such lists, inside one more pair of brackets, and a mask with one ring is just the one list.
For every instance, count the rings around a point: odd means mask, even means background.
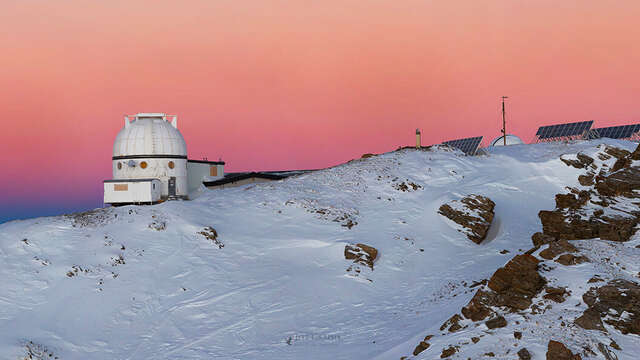
[{"label": "large white ribbed dome roof above the observatory's dark band", "polygon": [[125,119],[113,143],[113,156],[180,155],[186,158],[187,144],[177,129],[176,119],[166,121],[160,113],[140,113]]}]

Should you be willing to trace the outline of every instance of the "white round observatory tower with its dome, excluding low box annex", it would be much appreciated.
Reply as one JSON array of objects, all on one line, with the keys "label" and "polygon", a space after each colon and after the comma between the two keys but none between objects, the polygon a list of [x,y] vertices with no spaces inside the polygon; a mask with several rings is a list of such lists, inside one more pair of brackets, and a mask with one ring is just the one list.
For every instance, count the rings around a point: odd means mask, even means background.
[{"label": "white round observatory tower with its dome, excluding low box annex", "polygon": [[[171,120],[169,122],[168,120]],[[187,144],[177,116],[140,113],[125,116],[113,144],[113,179],[159,179],[162,198],[187,198]]]}]

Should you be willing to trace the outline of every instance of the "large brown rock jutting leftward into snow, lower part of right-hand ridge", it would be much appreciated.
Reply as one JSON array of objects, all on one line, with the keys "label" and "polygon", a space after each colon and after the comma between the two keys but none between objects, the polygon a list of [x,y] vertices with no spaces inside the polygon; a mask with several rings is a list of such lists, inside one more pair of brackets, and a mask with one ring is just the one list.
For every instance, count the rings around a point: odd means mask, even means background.
[{"label": "large brown rock jutting leftward into snow, lower part of right-hand ridge", "polygon": [[468,319],[479,321],[492,313],[490,306],[504,306],[511,311],[528,308],[531,299],[546,283],[538,273],[539,261],[528,254],[515,256],[489,280],[488,287],[493,291],[478,290],[462,308],[462,314]]}]

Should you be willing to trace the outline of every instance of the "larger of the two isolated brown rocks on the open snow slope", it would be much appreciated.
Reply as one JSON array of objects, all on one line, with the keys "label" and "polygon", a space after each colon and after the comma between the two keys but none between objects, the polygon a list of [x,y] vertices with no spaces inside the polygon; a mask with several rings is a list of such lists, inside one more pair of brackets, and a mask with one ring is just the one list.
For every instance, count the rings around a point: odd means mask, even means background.
[{"label": "larger of the two isolated brown rocks on the open snow slope", "polygon": [[488,197],[469,195],[440,206],[438,213],[463,227],[467,237],[479,244],[487,236],[493,221],[495,203]]}]

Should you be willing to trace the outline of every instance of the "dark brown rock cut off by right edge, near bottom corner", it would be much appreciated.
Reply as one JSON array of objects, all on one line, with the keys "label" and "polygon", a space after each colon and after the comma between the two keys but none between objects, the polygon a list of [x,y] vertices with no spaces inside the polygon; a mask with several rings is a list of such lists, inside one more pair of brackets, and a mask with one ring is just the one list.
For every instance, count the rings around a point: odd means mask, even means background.
[{"label": "dark brown rock cut off by right edge, near bottom corner", "polygon": [[591,288],[582,299],[589,306],[575,320],[588,330],[604,331],[603,321],[623,334],[640,335],[640,286],[616,279],[599,288]]}]

